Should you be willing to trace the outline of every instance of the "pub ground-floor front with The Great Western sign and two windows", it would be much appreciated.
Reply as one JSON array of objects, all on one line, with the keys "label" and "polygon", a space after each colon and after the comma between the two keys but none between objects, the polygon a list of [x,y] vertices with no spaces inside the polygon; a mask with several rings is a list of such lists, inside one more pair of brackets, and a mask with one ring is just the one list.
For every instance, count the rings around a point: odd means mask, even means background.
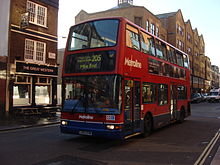
[{"label": "pub ground-floor front with The Great Western sign and two windows", "polygon": [[10,111],[16,114],[54,113],[58,67],[16,61],[10,88]]}]

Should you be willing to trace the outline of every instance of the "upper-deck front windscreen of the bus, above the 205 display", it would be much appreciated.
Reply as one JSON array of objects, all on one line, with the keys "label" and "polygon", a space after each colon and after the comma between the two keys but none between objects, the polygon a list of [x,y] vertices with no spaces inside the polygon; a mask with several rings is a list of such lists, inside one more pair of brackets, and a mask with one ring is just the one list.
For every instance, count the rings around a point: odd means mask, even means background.
[{"label": "upper-deck front windscreen of the bus, above the 205 display", "polygon": [[115,46],[119,20],[98,20],[73,26],[68,50]]}]

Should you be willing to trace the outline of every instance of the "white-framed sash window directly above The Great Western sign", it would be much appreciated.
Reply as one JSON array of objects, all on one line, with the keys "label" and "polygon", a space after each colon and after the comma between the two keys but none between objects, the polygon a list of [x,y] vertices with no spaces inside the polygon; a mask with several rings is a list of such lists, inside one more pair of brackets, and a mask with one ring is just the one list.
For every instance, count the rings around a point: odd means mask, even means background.
[{"label": "white-framed sash window directly above The Great Western sign", "polygon": [[[31,43],[33,46],[29,46],[28,42]],[[41,45],[41,49],[43,51],[39,50],[38,45]],[[31,53],[30,53],[31,52]],[[37,59],[38,53],[42,53],[42,60]],[[33,57],[33,58],[27,58],[27,57]],[[40,41],[35,41],[35,40],[30,40],[30,39],[25,39],[25,48],[24,48],[24,59],[27,62],[37,62],[37,63],[45,63],[46,59],[46,43],[40,42]]]}]

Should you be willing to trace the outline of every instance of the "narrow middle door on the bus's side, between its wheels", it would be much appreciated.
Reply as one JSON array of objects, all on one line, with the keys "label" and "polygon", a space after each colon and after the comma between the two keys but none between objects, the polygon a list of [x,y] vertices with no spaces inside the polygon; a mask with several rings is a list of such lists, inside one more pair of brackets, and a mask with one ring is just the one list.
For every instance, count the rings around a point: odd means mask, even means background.
[{"label": "narrow middle door on the bus's side, between its wheels", "polygon": [[175,120],[177,118],[177,86],[170,86],[170,118]]}]

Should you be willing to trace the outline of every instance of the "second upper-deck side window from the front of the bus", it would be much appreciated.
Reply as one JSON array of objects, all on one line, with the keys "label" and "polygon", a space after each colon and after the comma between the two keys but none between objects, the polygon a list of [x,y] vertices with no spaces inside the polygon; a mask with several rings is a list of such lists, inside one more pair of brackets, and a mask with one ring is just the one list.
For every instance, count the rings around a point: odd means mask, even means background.
[{"label": "second upper-deck side window from the front of the bus", "polygon": [[155,56],[154,38],[149,34],[141,32],[141,48],[142,52]]}]

